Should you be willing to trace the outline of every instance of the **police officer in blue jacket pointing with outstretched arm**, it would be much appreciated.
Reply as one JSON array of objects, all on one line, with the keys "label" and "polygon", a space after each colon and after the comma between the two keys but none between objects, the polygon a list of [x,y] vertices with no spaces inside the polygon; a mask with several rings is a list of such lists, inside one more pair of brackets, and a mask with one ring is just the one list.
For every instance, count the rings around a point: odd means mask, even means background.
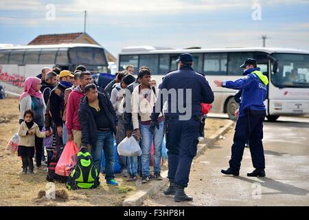
[{"label": "police officer in blue jacket pointing with outstretched arm", "polygon": [[253,58],[247,60],[240,66],[244,68],[244,78],[236,81],[215,80],[218,87],[239,89],[242,92],[239,116],[236,122],[233,145],[231,147],[231,159],[229,168],[221,170],[226,175],[239,175],[240,162],[244,153],[244,145],[249,140],[253,167],[249,177],[265,177],[265,158],[262,144],[263,121],[266,116],[264,100],[267,94],[268,78],[260,72]]}]

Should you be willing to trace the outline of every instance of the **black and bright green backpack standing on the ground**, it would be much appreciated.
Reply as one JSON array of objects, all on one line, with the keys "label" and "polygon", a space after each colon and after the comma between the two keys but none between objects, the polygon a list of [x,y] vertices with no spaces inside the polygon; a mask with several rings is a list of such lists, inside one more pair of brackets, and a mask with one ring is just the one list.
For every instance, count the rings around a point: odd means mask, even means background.
[{"label": "black and bright green backpack standing on the ground", "polygon": [[97,188],[100,185],[99,173],[87,148],[78,152],[76,166],[71,170],[67,179],[69,190]]}]

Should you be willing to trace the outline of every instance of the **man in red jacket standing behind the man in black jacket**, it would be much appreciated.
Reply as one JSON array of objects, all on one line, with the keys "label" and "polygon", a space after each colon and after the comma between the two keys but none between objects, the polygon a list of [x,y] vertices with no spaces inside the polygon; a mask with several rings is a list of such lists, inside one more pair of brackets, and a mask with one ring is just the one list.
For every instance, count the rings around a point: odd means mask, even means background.
[{"label": "man in red jacket standing behind the man in black jacket", "polygon": [[91,83],[91,73],[84,71],[80,74],[80,85],[73,89],[67,100],[67,115],[65,125],[67,126],[67,140],[73,142],[80,148],[82,145],[82,129],[78,121],[78,108],[80,100],[85,96],[84,87]]}]

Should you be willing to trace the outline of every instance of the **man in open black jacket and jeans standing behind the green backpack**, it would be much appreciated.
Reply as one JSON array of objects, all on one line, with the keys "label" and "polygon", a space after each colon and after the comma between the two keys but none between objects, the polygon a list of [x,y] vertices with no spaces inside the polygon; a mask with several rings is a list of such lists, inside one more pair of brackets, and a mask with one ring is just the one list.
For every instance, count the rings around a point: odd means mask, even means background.
[{"label": "man in open black jacket and jeans standing behind the green backpack", "polygon": [[95,84],[84,87],[85,97],[80,102],[78,120],[82,128],[82,147],[91,145],[93,164],[101,170],[102,148],[105,155],[106,184],[117,186],[114,176],[114,134],[117,116],[107,94],[98,91]]}]

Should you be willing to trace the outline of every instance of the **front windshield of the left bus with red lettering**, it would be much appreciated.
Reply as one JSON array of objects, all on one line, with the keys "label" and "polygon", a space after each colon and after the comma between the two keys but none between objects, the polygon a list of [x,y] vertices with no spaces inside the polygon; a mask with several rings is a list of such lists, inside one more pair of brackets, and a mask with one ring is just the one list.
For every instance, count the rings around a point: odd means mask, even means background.
[{"label": "front windshield of the left bus with red lettering", "polygon": [[85,65],[86,67],[91,67],[90,69],[98,69],[97,67],[108,66],[102,48],[73,47],[69,49],[69,58],[73,65]]}]

